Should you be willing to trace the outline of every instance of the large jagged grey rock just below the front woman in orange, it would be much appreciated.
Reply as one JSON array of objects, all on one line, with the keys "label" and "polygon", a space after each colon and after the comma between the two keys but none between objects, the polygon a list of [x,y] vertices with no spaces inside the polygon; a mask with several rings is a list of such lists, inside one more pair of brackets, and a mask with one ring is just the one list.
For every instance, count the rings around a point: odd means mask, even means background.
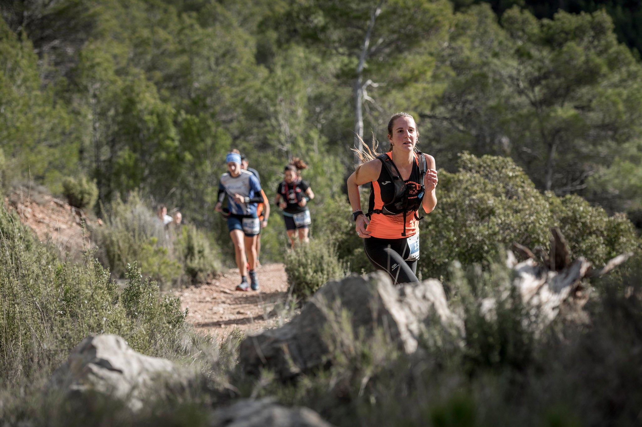
[{"label": "large jagged grey rock just below the front woman in orange", "polygon": [[343,310],[355,337],[363,333],[367,339],[376,328],[383,328],[406,353],[417,349],[422,325],[429,319],[438,319],[447,328],[460,326],[438,280],[395,287],[386,273],[377,271],[328,282],[290,323],[247,337],[241,342],[241,365],[254,373],[268,367],[282,379],[324,365],[329,360],[329,331],[350,333],[341,323]]}]

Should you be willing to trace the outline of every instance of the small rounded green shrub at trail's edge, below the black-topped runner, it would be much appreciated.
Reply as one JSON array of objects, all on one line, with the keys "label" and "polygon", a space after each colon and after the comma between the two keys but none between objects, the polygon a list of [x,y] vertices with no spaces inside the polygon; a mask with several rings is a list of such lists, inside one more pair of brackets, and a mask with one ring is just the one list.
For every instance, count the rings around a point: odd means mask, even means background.
[{"label": "small rounded green shrub at trail's edge, below the black-topped runner", "polygon": [[325,238],[295,245],[286,255],[285,272],[291,293],[310,296],[328,280],[345,277],[347,269],[337,257],[335,244]]}]

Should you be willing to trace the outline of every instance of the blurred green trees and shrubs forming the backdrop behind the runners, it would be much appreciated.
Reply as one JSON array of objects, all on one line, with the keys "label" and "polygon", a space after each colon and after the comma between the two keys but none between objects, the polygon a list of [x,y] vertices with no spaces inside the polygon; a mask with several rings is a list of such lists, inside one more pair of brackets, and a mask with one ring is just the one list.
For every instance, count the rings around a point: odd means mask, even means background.
[{"label": "blurred green trees and shrubs forming the backdrop behind the runners", "polygon": [[[313,238],[330,236],[360,272],[369,266],[348,223],[350,149],[355,134],[385,141],[388,118],[404,110],[446,183],[422,225],[424,275],[513,240],[546,245],[551,225],[573,232],[584,221],[569,209],[597,209],[602,222],[623,222],[605,219],[623,213],[641,227],[634,3],[6,1],[1,182],[29,180],[55,194],[82,183],[78,197],[113,227],[130,195],[148,209],[167,205],[229,262],[227,227],[214,212],[225,153],[248,156],[270,200],[283,166],[301,157],[317,194]],[[477,170],[485,162],[492,166]],[[435,223],[444,227],[433,232]],[[449,236],[447,224],[476,230]],[[167,258],[153,248],[162,236],[141,239],[139,249]],[[596,239],[603,262],[616,246]],[[284,248],[273,207],[263,261],[283,261]],[[124,273],[126,261],[109,251],[105,264]],[[161,275],[176,277],[169,258]]]}]

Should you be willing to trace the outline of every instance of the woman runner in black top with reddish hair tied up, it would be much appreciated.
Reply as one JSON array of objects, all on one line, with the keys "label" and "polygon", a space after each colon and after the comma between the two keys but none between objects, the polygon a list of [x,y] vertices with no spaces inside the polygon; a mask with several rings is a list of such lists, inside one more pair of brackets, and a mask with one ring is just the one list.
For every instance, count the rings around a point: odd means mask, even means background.
[{"label": "woman runner in black top with reddish hair tied up", "polygon": [[[309,241],[309,225],[312,223],[308,202],[315,198],[315,193],[299,176],[299,170],[308,168],[301,159],[295,157],[290,165],[285,166],[284,180],[277,187],[276,205],[283,209],[285,228],[290,238],[290,246],[294,248],[295,234],[299,232],[299,241]],[[283,198],[283,200],[281,200]]]}]

